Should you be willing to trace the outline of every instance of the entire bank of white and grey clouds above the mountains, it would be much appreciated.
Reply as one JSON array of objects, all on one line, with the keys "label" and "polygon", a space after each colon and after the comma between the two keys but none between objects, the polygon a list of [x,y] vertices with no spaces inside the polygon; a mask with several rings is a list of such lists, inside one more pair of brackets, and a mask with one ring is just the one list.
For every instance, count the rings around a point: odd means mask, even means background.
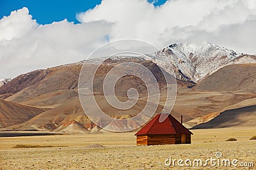
[{"label": "entire bank of white and grey clouds above the mountains", "polygon": [[83,60],[107,41],[132,38],[158,48],[170,43],[216,43],[255,52],[255,0],[102,0],[67,20],[40,25],[28,8],[0,20],[0,77]]}]

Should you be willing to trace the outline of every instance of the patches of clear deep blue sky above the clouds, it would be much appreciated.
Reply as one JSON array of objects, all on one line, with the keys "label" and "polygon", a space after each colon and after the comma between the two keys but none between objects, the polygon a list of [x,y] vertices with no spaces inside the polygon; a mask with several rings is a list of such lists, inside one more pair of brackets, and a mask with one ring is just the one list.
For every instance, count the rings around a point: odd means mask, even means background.
[{"label": "patches of clear deep blue sky above the clouds", "polygon": [[[23,7],[29,9],[29,14],[33,16],[38,24],[51,24],[67,18],[69,22],[79,23],[76,14],[93,9],[101,0],[0,0],[0,18],[9,16],[11,11]],[[166,0],[148,0],[155,6],[161,6]]]}]

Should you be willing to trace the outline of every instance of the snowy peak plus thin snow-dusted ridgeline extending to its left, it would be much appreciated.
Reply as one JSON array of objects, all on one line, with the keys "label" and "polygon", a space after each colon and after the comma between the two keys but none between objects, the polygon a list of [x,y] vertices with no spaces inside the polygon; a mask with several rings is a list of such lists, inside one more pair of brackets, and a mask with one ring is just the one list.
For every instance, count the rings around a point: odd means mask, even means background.
[{"label": "snowy peak plus thin snow-dusted ridgeline extending to its left", "polygon": [[[230,64],[256,63],[255,55],[236,53],[233,50],[228,50],[227,48],[212,43],[203,43],[202,45],[174,43],[163,48],[159,52],[145,55],[147,57],[112,56],[111,60],[119,60],[120,62],[125,62],[127,59],[131,60],[131,58],[137,60],[152,60],[152,62],[155,62],[168,73],[172,74],[174,71],[176,78],[180,80],[194,81],[195,83],[198,83],[212,73],[215,73],[221,69],[221,67]],[[102,59],[106,59],[106,57],[82,60],[72,64],[52,67],[51,69],[83,66],[84,62],[87,64],[100,64]],[[111,62],[109,61],[106,64],[111,64]],[[45,72],[46,69],[37,71],[43,71],[44,74],[42,76],[45,76],[48,73]],[[31,76],[29,74],[34,74],[34,72],[36,73],[36,71],[32,71],[20,76],[29,78]],[[11,80],[11,78],[0,78],[0,87]]]}]

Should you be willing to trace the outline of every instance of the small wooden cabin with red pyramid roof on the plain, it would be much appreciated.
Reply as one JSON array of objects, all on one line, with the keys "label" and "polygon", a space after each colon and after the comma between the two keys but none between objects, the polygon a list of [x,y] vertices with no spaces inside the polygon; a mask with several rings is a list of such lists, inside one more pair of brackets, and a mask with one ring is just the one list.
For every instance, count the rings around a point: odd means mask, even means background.
[{"label": "small wooden cabin with red pyramid roof on the plain", "polygon": [[193,133],[184,127],[182,123],[170,114],[166,114],[166,119],[160,122],[160,116],[161,114],[156,115],[135,134],[137,136],[137,145],[191,143],[191,134]]}]

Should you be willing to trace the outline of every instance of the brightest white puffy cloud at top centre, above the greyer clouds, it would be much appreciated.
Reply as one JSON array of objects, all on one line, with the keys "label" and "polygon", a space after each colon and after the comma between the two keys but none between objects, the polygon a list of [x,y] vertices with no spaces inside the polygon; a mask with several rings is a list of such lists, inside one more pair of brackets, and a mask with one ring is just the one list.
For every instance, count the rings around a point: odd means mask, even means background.
[{"label": "brightest white puffy cloud at top centre, above the greyer clouds", "polygon": [[80,13],[77,18],[82,23],[95,20],[115,23],[111,31],[112,39],[138,38],[156,43],[159,34],[167,28],[198,24],[216,6],[221,8],[221,3],[215,3],[214,0],[167,1],[155,8],[147,1],[103,0],[93,10]]}]

